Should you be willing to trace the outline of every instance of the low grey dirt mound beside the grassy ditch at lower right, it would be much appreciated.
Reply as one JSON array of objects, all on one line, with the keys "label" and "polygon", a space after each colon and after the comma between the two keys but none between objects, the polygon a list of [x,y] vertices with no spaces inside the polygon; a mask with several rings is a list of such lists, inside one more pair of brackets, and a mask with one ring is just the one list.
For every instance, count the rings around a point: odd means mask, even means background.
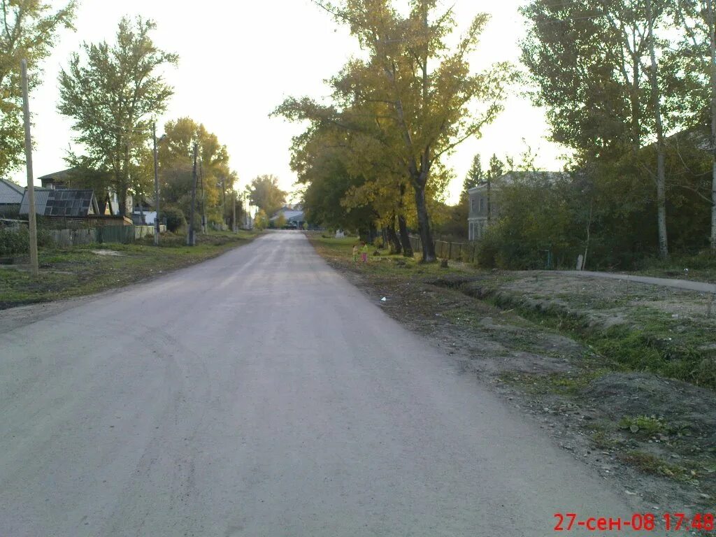
[{"label": "low grey dirt mound beside the grassy ditch at lower right", "polygon": [[584,396],[613,420],[657,416],[676,430],[716,445],[714,393],[650,373],[610,373],[591,382]]}]

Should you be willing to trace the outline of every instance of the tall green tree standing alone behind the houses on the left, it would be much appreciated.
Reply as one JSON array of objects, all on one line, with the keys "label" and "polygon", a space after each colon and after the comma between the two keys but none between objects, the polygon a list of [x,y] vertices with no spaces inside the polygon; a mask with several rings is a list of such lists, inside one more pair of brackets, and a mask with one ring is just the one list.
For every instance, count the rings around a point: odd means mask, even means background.
[{"label": "tall green tree standing alone behind the houses on the left", "polygon": [[150,37],[154,29],[153,21],[123,18],[114,44],[83,44],[59,75],[58,110],[72,118],[74,140],[85,150],[67,160],[109,172],[122,215],[151,123],[173,95],[159,69],[176,64],[178,56],[156,47]]}]

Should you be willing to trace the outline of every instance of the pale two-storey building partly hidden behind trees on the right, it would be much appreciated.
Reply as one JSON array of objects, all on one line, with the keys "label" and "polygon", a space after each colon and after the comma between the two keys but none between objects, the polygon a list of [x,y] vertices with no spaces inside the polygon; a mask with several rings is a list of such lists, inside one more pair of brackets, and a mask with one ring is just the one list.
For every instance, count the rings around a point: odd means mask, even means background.
[{"label": "pale two-storey building partly hidden behind trees on the right", "polygon": [[493,181],[485,181],[468,190],[470,213],[468,214],[468,238],[480,241],[485,236],[488,226],[500,216],[500,187],[514,183],[518,178],[535,174],[541,178],[554,180],[565,175],[563,172],[510,172]]}]

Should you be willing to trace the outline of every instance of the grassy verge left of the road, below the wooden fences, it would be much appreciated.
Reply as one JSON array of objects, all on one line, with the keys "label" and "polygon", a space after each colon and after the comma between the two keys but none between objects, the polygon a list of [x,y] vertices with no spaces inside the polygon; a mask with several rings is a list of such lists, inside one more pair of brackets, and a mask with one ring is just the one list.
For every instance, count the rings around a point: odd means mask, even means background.
[{"label": "grassy verge left of the road, below the wooden fences", "polygon": [[[102,244],[71,248],[41,248],[40,276],[26,269],[0,267],[0,309],[92,294],[133,284],[158,274],[199,263],[230,248],[247,243],[257,233],[241,231],[197,236],[197,246],[185,246],[185,238],[168,233],[163,247],[133,244]],[[152,239],[150,238],[150,241]],[[149,242],[151,243],[151,242]],[[112,250],[121,256],[100,256],[92,250]],[[29,260],[24,259],[25,263]]]}]

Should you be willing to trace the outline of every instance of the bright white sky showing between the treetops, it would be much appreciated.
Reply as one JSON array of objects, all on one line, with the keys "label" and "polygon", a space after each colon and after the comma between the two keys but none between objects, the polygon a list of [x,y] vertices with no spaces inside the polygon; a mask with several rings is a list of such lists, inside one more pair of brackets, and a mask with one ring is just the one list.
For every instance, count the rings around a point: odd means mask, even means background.
[{"label": "bright white sky showing between the treetops", "polygon": [[[289,168],[289,147],[302,127],[271,119],[269,112],[289,95],[328,94],[323,80],[357,51],[345,29],[337,28],[309,0],[203,0],[190,4],[190,9],[175,0],[81,1],[77,32],[62,33],[44,64],[45,82],[31,97],[36,177],[67,167],[63,156],[72,133],[71,122],[56,110],[60,67],[67,65],[82,41],[111,42],[122,15],[141,14],[157,22],[153,37],[158,46],[180,56],[178,67],[167,72],[175,95],[162,123],[183,116],[203,122],[228,146],[231,168],[241,185],[256,175],[273,173],[284,189],[293,189],[296,177]],[[523,21],[517,10],[522,0],[454,2],[460,24],[468,24],[479,11],[493,16],[473,59],[476,69],[497,61],[518,62]],[[538,154],[539,167],[561,168],[563,150],[545,140],[546,132],[543,112],[524,97],[511,97],[483,137],[465,142],[448,162],[457,174],[450,200],[457,200],[475,153],[486,167],[493,153],[518,156],[525,148],[523,139]],[[24,184],[24,169],[14,179]]]}]

